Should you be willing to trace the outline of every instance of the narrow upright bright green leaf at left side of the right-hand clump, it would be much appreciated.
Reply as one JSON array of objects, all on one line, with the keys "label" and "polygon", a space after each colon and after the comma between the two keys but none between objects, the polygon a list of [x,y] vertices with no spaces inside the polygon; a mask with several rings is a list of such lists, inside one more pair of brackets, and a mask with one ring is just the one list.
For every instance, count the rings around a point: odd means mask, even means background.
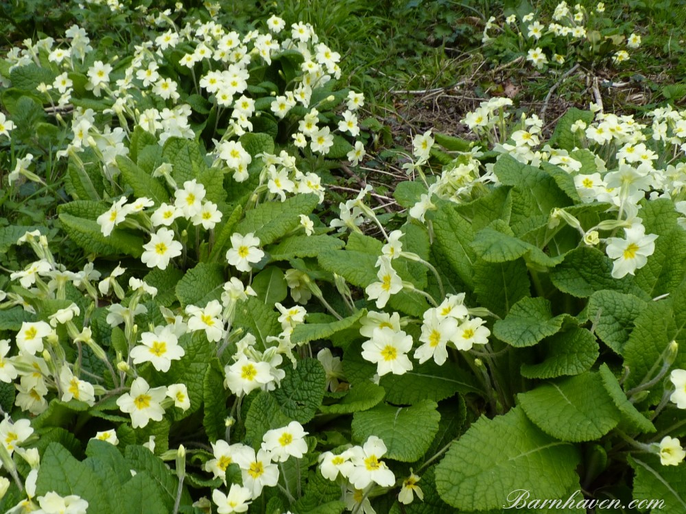
[{"label": "narrow upright bright green leaf at left side of the right-hand clump", "polygon": [[454,273],[472,289],[474,286],[473,266],[476,255],[471,247],[474,234],[453,204],[440,201],[434,215],[434,245],[445,255]]}]

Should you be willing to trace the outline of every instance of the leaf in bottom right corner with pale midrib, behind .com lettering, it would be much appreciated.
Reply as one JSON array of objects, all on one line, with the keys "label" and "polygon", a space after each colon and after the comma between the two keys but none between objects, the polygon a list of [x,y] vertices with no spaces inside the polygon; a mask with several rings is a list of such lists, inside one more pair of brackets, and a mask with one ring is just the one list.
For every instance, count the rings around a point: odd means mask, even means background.
[{"label": "leaf in bottom right corner with pale midrib, behind .com lettering", "polygon": [[[686,473],[683,463],[678,466],[663,466],[654,455],[637,454],[629,456],[628,462],[636,475],[633,497],[635,500],[653,502],[651,513],[676,513],[686,511]],[[656,504],[660,500],[662,504]],[[659,506],[659,508],[657,508]]]}]

